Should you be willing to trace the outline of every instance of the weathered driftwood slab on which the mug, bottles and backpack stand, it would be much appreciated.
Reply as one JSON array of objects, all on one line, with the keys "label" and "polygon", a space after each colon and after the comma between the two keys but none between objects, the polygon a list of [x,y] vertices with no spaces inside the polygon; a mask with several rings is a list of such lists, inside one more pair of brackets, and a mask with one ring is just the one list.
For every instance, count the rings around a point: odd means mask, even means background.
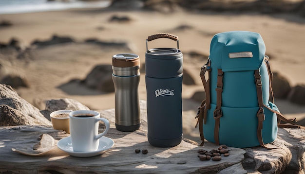
[{"label": "weathered driftwood slab on which the mug, bottles and backpack stand", "polygon": [[[201,161],[197,157],[199,148],[209,151],[219,146],[205,142],[204,147],[198,147],[182,141],[171,148],[153,147],[147,140],[146,102],[141,101],[140,104],[142,124],[140,130],[134,132],[120,132],[115,129],[114,109],[99,111],[101,117],[110,121],[111,128],[106,137],[114,140],[114,146],[95,157],[73,157],[64,152],[36,157],[21,155],[12,151],[12,148],[38,153],[33,148],[52,148],[52,143],[50,147],[45,147],[48,144],[41,142],[43,137],[50,141],[46,134],[54,139],[55,145],[59,139],[70,135],[46,125],[0,127],[0,173],[304,173],[303,129],[279,129],[278,138],[273,143],[279,149],[228,147],[229,157],[222,156],[220,161]],[[100,129],[104,129],[102,123]],[[136,154],[135,149],[147,149],[148,154]]]}]

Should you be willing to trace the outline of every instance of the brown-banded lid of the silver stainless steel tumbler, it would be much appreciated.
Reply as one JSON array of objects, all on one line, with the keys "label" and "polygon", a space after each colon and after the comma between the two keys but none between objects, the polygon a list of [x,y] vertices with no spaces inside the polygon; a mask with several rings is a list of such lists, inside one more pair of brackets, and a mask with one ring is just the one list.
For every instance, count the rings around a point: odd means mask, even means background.
[{"label": "brown-banded lid of the silver stainless steel tumbler", "polygon": [[114,67],[134,67],[140,65],[140,58],[136,54],[122,53],[115,54],[112,57],[112,66]]}]

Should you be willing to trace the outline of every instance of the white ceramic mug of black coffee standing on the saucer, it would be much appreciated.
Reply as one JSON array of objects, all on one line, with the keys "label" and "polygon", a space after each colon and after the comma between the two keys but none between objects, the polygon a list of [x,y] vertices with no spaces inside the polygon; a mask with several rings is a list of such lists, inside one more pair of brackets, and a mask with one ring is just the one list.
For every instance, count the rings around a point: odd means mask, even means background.
[{"label": "white ceramic mug of black coffee standing on the saucer", "polygon": [[[94,152],[98,149],[99,139],[106,135],[110,123],[93,110],[77,110],[70,112],[70,135],[73,151]],[[98,134],[98,121],[105,123],[106,129]]]}]

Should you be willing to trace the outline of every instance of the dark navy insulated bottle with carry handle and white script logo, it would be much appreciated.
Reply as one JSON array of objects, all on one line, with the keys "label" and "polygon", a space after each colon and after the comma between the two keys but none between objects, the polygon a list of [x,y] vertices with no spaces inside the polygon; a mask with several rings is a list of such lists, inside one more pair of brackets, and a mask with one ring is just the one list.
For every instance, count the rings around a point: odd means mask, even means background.
[{"label": "dark navy insulated bottle with carry handle and white script logo", "polygon": [[[157,38],[177,41],[177,48],[148,50],[148,42]],[[182,140],[182,65],[177,36],[156,34],[146,39],[148,141],[153,146],[172,147]]]}]

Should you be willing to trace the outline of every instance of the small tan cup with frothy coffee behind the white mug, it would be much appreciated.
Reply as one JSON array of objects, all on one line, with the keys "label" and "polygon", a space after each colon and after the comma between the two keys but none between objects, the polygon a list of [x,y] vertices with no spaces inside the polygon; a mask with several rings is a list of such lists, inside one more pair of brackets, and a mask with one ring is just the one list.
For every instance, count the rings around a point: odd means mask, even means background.
[{"label": "small tan cup with frothy coffee behind the white mug", "polygon": [[66,131],[70,134],[69,113],[72,110],[57,110],[50,114],[51,122],[54,129]]}]

